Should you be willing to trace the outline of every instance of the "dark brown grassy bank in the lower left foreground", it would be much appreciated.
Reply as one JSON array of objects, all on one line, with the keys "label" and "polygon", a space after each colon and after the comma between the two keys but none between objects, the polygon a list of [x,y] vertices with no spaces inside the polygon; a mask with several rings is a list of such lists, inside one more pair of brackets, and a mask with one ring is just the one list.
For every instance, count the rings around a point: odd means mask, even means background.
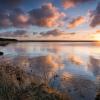
[{"label": "dark brown grassy bank in the lower left foreground", "polygon": [[37,83],[19,67],[3,62],[0,63],[0,100],[70,100],[70,97]]}]

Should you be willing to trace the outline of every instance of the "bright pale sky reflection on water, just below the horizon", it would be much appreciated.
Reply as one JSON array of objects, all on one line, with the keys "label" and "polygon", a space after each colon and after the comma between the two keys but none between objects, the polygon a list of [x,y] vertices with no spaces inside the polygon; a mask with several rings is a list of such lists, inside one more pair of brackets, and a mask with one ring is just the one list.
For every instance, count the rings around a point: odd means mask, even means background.
[{"label": "bright pale sky reflection on water, just below the horizon", "polygon": [[64,71],[90,76],[95,76],[89,69],[93,61],[97,64],[100,59],[100,47],[92,43],[17,43],[2,47],[1,51],[13,58],[20,55],[28,58],[55,56],[64,64]]}]

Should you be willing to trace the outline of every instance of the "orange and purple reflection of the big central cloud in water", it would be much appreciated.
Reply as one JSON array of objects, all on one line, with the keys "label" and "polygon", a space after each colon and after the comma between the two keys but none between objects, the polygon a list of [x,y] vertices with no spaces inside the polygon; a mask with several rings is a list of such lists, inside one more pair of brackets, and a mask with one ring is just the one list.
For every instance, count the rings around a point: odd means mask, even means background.
[{"label": "orange and purple reflection of the big central cloud in water", "polygon": [[[20,66],[20,69],[35,75],[37,79],[42,78],[41,81],[47,81],[57,74],[57,71],[63,69],[61,58],[59,56],[46,55],[34,58],[27,58],[25,56],[18,56],[13,59],[13,63]],[[45,77],[46,75],[46,77]]]}]

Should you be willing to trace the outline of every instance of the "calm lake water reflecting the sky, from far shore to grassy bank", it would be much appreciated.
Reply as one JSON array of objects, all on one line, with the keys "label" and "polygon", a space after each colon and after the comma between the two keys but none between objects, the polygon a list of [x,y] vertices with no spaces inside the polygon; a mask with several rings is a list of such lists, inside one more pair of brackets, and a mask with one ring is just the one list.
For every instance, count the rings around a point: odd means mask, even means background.
[{"label": "calm lake water reflecting the sky, from far shore to grassy bank", "polygon": [[94,100],[100,79],[100,45],[25,42],[0,47],[0,51],[30,75],[69,93],[72,100]]}]

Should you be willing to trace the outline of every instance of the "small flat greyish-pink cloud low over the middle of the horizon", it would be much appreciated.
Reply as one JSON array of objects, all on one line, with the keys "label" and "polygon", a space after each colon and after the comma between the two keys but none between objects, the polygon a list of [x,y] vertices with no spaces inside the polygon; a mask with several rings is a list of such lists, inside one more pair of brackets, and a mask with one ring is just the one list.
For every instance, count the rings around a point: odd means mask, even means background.
[{"label": "small flat greyish-pink cloud low over the middle of the horizon", "polygon": [[61,36],[64,35],[64,32],[58,30],[58,29],[54,29],[54,30],[50,30],[47,32],[41,32],[40,33],[41,36]]}]

